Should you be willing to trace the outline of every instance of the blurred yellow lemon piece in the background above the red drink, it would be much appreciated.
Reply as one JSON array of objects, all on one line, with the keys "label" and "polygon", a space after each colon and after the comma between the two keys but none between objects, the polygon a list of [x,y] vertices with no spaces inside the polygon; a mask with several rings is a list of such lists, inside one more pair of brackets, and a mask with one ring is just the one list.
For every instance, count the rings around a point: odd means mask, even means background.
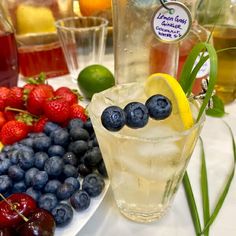
[{"label": "blurred yellow lemon piece in the background above the red drink", "polygon": [[52,11],[46,7],[34,7],[20,4],[16,11],[18,34],[54,32],[55,19]]}]

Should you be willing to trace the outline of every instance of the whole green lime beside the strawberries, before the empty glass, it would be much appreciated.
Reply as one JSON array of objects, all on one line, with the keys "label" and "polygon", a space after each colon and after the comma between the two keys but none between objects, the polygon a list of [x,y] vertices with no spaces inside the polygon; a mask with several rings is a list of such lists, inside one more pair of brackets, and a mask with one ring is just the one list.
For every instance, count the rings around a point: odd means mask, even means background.
[{"label": "whole green lime beside the strawberries, before the empty glass", "polygon": [[113,74],[102,65],[85,67],[78,76],[78,86],[86,98],[115,85]]}]

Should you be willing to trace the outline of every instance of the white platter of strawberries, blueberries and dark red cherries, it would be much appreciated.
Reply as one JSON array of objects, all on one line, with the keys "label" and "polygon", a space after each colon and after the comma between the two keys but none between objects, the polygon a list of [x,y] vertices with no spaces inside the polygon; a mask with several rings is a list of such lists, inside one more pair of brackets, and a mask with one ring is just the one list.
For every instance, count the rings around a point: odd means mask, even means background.
[{"label": "white platter of strawberries, blueberries and dark red cherries", "polygon": [[0,87],[1,235],[75,235],[109,187],[81,96],[45,81]]}]

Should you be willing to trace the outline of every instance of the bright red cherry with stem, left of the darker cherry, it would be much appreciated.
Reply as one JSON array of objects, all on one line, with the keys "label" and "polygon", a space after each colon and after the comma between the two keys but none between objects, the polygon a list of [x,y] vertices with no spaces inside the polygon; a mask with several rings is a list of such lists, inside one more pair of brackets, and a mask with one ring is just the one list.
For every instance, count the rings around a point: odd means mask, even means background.
[{"label": "bright red cherry with stem, left of the darker cherry", "polygon": [[27,194],[16,193],[0,202],[0,227],[15,227],[36,209],[35,200]]}]

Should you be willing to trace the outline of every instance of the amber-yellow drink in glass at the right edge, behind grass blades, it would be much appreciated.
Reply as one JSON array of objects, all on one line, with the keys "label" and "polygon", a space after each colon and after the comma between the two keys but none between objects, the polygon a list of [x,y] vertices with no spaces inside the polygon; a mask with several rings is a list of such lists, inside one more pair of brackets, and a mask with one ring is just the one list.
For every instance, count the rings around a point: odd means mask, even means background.
[{"label": "amber-yellow drink in glass at the right edge, behind grass blades", "polygon": [[[206,27],[211,29],[213,26]],[[236,47],[236,27],[216,25],[213,31],[213,43],[216,50]],[[217,55],[216,92],[224,103],[230,103],[236,97],[236,50],[226,50]]]}]

